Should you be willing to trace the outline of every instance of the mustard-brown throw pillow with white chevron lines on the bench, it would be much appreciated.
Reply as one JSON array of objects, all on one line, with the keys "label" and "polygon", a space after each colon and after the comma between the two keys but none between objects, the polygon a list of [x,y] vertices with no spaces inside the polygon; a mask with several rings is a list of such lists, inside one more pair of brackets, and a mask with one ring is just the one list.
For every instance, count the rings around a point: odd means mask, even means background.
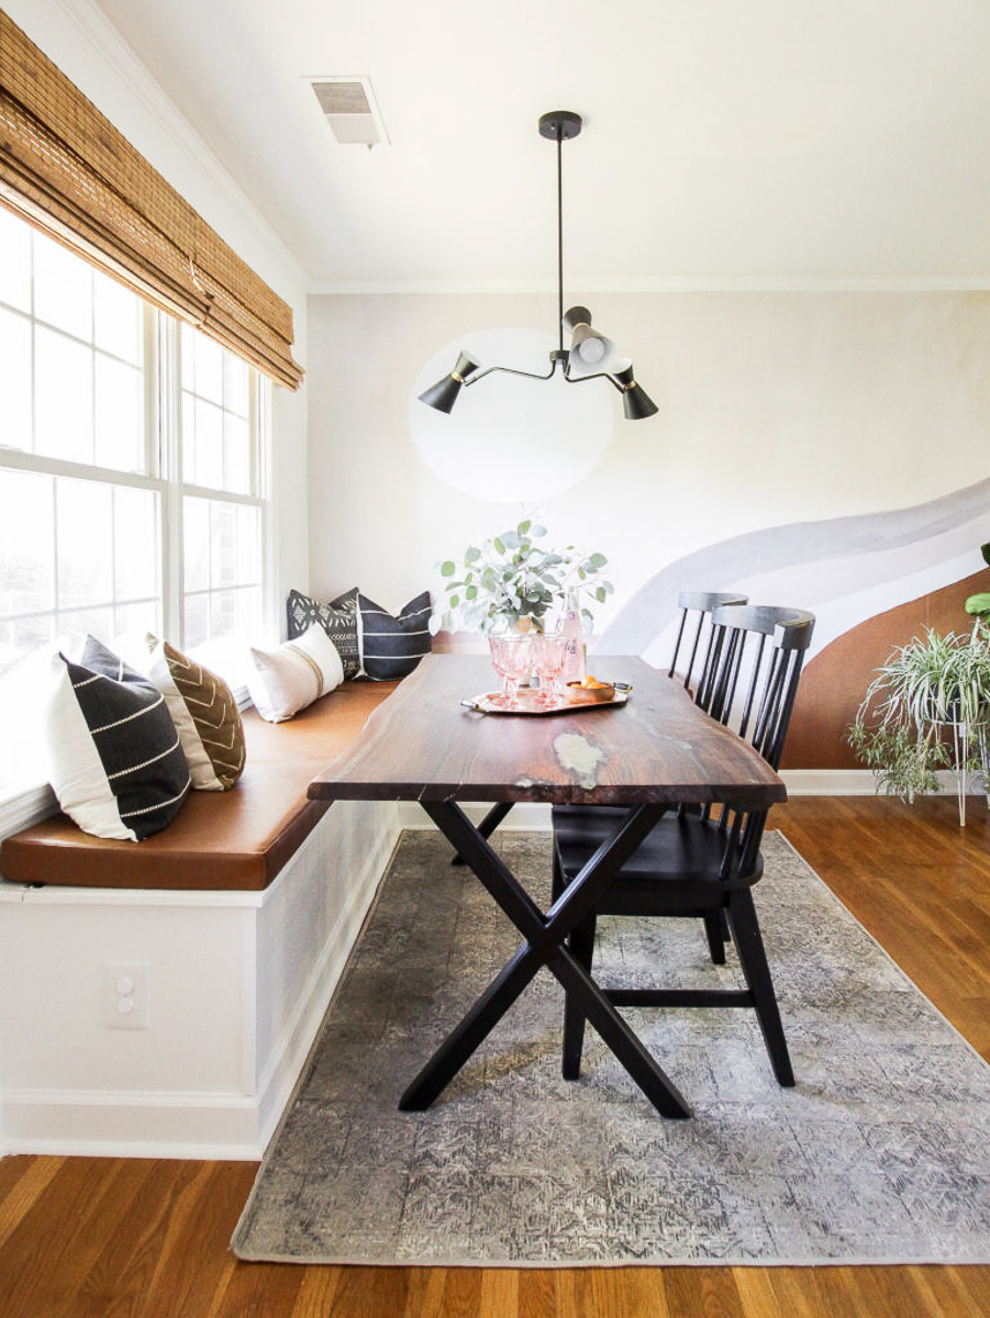
[{"label": "mustard-brown throw pillow with white chevron lines on the bench", "polygon": [[167,641],[146,638],[148,676],[165,696],[182,741],[192,786],[225,792],[244,772],[244,728],[233,692],[216,673]]}]

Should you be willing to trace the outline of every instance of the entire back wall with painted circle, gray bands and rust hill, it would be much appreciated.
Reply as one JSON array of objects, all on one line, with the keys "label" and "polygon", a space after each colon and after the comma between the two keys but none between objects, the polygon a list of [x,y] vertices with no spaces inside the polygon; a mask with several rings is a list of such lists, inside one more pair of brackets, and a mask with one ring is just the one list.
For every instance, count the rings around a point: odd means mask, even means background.
[{"label": "entire back wall with painted circle, gray bands and rust hill", "polygon": [[[442,589],[438,561],[534,515],[554,543],[608,555],[602,654],[663,664],[679,590],[734,588],[813,612],[791,762],[852,767],[842,731],[870,670],[925,622],[962,630],[968,579],[990,585],[990,290],[593,301],[602,324],[622,324],[659,414],[631,424],[605,397],[618,416],[589,468],[563,414],[525,424],[529,395],[518,418],[496,418],[480,385],[463,402],[484,399],[482,416],[459,403],[430,452],[411,424],[434,353],[471,327],[544,332],[546,294],[310,299],[310,592],[360,584],[399,609]],[[525,384],[534,405],[552,401],[551,385]]]}]

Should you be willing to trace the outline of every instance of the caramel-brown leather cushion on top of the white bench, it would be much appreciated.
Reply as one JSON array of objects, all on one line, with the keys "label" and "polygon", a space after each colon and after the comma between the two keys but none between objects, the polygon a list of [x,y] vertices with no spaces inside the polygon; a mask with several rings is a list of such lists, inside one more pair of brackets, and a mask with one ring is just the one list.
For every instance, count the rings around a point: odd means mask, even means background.
[{"label": "caramel-brown leather cushion on top of the white bench", "polygon": [[229,792],[190,792],[144,842],[91,837],[54,815],[8,837],[0,873],[17,883],[100,888],[266,888],[327,812],[310,780],[364,728],[398,683],[349,683],[283,724],[244,717],[244,775]]}]

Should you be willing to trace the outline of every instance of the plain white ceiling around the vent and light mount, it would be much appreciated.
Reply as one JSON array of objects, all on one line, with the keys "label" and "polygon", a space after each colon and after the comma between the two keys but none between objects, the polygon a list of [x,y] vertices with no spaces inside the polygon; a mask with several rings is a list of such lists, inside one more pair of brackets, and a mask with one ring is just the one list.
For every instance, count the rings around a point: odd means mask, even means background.
[{"label": "plain white ceiling around the vent and light mount", "polygon": [[[986,0],[98,0],[316,287],[986,286]],[[306,76],[369,75],[390,145]]]}]

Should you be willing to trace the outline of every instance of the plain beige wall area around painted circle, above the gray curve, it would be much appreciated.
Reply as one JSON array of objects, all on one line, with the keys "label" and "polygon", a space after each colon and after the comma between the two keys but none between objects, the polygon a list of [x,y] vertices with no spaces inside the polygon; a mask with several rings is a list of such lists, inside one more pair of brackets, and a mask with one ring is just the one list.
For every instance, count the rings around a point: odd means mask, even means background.
[{"label": "plain beige wall area around painted circle, above the gray curve", "polygon": [[[588,301],[596,323],[634,357],[659,407],[649,420],[626,422],[613,394],[616,420],[602,460],[538,510],[552,538],[608,555],[617,594],[602,623],[664,564],[713,542],[907,507],[987,474],[986,293]],[[435,560],[513,522],[517,505],[457,493],[419,461],[409,435],[410,389],[427,358],[461,333],[489,326],[551,332],[554,302],[484,294],[310,298],[316,592],[359,583],[386,606],[401,605],[431,577]],[[480,381],[472,398],[497,380]],[[604,381],[571,387],[612,393]],[[456,409],[450,419],[456,424]],[[972,571],[978,567],[977,554]]]}]

